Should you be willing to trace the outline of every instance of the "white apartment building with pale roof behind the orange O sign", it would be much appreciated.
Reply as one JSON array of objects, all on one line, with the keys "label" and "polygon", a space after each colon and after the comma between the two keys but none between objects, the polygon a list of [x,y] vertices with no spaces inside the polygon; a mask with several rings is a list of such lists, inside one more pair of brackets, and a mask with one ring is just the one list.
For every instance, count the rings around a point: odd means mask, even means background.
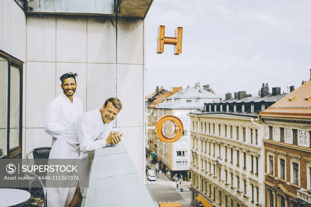
[{"label": "white apartment building with pale roof behind the orange O sign", "polygon": [[[190,117],[187,114],[198,110],[204,103],[220,101],[221,97],[212,92],[209,85],[200,87],[196,83],[194,87],[179,90],[173,95],[163,99],[153,111],[153,120],[164,115],[173,115],[178,117],[183,123],[183,136],[174,143],[163,143],[157,140],[156,153],[160,158],[160,167],[165,172],[170,172],[169,177],[177,174],[183,176],[183,179],[191,179],[190,173]],[[175,126],[172,122],[165,123],[163,133],[170,136],[174,133]],[[155,143],[152,143],[155,146]]]}]

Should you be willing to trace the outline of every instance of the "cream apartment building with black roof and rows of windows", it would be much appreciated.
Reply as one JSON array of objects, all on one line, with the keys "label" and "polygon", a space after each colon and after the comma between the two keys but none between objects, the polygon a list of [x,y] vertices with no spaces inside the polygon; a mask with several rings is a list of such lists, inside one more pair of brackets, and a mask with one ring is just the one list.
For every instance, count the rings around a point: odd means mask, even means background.
[{"label": "cream apartment building with black roof and rows of windows", "polygon": [[[192,200],[222,207],[263,206],[262,121],[258,113],[285,94],[263,84],[259,96],[245,91],[205,103],[191,118]],[[198,200],[198,199],[197,199]]]}]

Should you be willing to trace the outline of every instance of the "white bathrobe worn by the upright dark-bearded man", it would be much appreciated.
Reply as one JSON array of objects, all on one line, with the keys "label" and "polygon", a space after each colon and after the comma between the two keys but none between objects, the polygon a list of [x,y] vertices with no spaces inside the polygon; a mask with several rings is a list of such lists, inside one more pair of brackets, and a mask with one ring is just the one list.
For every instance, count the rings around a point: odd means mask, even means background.
[{"label": "white bathrobe worn by the upright dark-bearded man", "polygon": [[82,101],[77,97],[73,97],[71,103],[64,93],[49,103],[45,116],[44,129],[53,137],[52,146],[59,135],[82,113]]}]

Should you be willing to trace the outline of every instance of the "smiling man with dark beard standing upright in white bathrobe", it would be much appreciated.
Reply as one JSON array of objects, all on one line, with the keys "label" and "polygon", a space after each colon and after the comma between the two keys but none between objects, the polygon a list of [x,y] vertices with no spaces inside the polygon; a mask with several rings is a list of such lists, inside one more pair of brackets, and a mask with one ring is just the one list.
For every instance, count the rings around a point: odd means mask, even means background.
[{"label": "smiling man with dark beard standing upright in white bathrobe", "polygon": [[73,97],[77,88],[76,77],[77,73],[63,74],[59,78],[63,93],[48,105],[44,129],[53,137],[52,146],[59,135],[83,113],[82,101]]}]

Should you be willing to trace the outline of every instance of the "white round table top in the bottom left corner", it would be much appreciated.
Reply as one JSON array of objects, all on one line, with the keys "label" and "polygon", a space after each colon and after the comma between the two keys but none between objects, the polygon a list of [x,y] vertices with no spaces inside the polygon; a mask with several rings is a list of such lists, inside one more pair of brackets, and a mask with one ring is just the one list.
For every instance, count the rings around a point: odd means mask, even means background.
[{"label": "white round table top in the bottom left corner", "polygon": [[27,191],[12,188],[0,188],[0,207],[21,204],[29,198],[30,193]]}]

